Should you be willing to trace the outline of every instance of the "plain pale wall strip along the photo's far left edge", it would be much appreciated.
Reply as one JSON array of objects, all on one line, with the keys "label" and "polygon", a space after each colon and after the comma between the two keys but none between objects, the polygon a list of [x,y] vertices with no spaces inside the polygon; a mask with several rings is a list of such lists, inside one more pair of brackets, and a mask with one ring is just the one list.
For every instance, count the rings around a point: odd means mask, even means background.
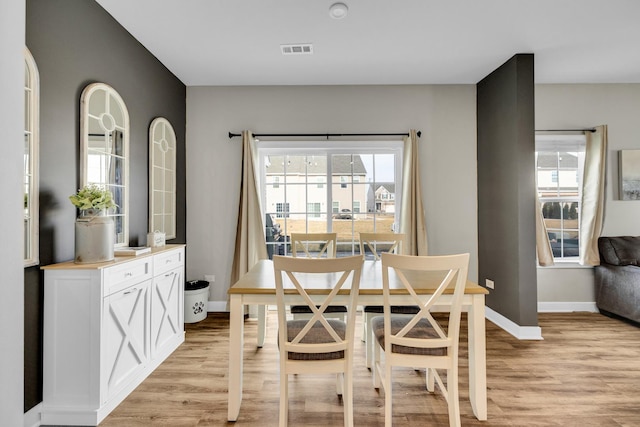
[{"label": "plain pale wall strip along the photo's far left edge", "polygon": [[[24,128],[25,2],[0,2],[0,425],[23,425],[24,272],[22,154]],[[13,201],[13,203],[12,203]]]}]

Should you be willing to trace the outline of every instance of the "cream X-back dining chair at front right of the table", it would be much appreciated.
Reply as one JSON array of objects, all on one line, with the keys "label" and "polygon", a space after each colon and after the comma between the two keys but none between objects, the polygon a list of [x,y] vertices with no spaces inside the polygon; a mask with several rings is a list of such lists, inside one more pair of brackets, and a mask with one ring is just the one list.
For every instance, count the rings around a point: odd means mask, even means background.
[{"label": "cream X-back dining chair at front right of the table", "polygon": [[[458,340],[462,297],[467,281],[469,254],[446,256],[408,256],[382,254],[383,316],[371,321],[376,339],[373,354],[373,384],[385,393],[385,426],[392,425],[392,368],[394,366],[426,368],[426,386],[435,391],[437,382],[447,401],[449,425],[460,426],[458,397]],[[415,272],[438,272],[442,280],[430,294],[420,294]],[[394,315],[389,303],[390,282],[394,289],[404,288],[420,311],[414,316]],[[451,298],[448,316],[434,318],[431,311],[443,298]],[[453,292],[453,294],[451,294]],[[443,326],[446,324],[446,326]],[[381,352],[384,351],[384,358]],[[446,386],[439,371],[446,371]]]}]

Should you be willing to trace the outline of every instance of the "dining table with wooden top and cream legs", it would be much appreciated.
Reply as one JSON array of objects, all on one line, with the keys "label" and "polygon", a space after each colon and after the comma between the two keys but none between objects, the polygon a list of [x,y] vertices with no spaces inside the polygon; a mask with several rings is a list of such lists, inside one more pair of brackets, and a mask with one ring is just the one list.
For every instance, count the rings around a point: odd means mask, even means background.
[{"label": "dining table with wooden top and cream legs", "polygon": [[[444,272],[410,272],[407,277],[415,283],[416,293],[433,294],[440,284]],[[335,282],[334,282],[335,283]],[[291,285],[292,286],[292,285]],[[312,299],[318,303],[331,291],[331,280],[305,280],[303,286]],[[415,305],[416,301],[399,283],[398,277],[390,270],[390,304]],[[347,303],[349,290],[340,291],[331,304]],[[285,302],[300,302],[299,295],[285,284]],[[453,288],[446,289],[440,296],[434,311],[448,311]],[[467,313],[469,400],[473,413],[478,420],[487,419],[487,379],[486,379],[486,333],[485,333],[485,295],[486,288],[467,280],[462,299],[462,310]],[[266,335],[266,307],[276,305],[276,285],[273,261],[258,261],[244,276],[228,290],[229,295],[229,402],[227,419],[236,421],[242,403],[242,371],[244,348],[244,321],[246,306],[258,306],[257,345],[262,347]],[[365,260],[360,276],[358,305],[382,305],[382,262]]]}]

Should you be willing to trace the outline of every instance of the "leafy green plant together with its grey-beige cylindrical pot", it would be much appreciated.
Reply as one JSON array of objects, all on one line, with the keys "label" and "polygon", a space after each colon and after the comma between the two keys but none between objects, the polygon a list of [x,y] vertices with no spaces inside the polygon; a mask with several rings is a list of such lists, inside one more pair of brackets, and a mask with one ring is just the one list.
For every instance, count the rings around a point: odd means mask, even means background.
[{"label": "leafy green plant together with its grey-beige cylindrical pot", "polygon": [[75,263],[113,260],[115,230],[113,219],[106,216],[107,210],[117,206],[111,191],[89,184],[69,196],[69,200],[81,212],[76,218]]}]

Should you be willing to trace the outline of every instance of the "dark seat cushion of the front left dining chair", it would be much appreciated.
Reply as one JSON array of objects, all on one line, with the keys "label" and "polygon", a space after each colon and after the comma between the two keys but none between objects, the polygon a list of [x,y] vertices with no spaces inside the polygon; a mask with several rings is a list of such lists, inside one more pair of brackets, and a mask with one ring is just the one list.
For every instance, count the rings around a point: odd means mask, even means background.
[{"label": "dark seat cushion of the front left dining chair", "polygon": [[[291,342],[300,333],[302,328],[307,324],[307,320],[288,320],[287,321],[287,341]],[[327,319],[327,322],[336,331],[342,339],[346,336],[347,324],[339,319]],[[311,330],[302,339],[303,344],[321,344],[333,343],[335,340],[329,335],[329,332],[318,321],[316,321]],[[344,351],[332,351],[329,353],[294,353],[289,352],[290,360],[333,360],[344,358]]]}]

